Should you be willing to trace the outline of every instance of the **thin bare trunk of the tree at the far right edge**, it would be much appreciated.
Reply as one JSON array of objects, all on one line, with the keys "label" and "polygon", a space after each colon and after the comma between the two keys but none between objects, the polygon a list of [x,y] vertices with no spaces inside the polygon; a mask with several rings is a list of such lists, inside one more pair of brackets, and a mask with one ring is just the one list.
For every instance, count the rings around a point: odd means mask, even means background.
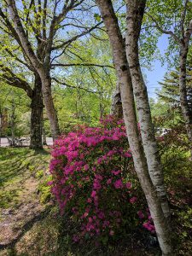
[{"label": "thin bare trunk of the tree at the far right edge", "polygon": [[192,113],[189,108],[188,95],[186,89],[186,77],[187,77],[187,55],[189,48],[184,45],[181,46],[179,55],[179,92],[180,92],[180,103],[183,114],[183,119],[185,122],[185,127],[187,130],[187,135],[189,138],[189,147],[192,155]]}]

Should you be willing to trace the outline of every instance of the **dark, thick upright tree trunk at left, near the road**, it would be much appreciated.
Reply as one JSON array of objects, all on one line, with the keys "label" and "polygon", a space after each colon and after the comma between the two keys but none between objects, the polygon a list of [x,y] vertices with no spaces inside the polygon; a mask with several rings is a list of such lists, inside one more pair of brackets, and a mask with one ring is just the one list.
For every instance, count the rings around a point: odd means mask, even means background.
[{"label": "dark, thick upright tree trunk at left, near the road", "polygon": [[41,79],[38,73],[35,74],[35,84],[32,91],[32,113],[31,113],[31,141],[30,148],[38,149],[42,146],[42,115],[44,109],[44,102],[42,96]]}]

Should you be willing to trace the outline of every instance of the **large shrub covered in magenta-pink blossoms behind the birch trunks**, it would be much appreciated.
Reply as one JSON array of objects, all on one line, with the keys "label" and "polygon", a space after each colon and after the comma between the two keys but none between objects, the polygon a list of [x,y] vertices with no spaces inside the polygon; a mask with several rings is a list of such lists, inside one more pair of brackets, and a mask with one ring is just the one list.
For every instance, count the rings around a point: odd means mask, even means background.
[{"label": "large shrub covered in magenta-pink blossoms behind the birch trunks", "polygon": [[61,212],[80,224],[73,241],[103,241],[143,223],[154,232],[122,120],[108,117],[99,127],[79,127],[55,141],[52,157],[52,193]]}]

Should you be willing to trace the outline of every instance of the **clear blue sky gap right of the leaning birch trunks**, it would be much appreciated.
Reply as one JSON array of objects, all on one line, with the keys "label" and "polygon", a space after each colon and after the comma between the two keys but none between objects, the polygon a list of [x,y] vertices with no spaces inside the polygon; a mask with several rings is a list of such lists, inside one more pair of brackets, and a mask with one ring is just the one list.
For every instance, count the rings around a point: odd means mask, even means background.
[{"label": "clear blue sky gap right of the leaning birch trunks", "polygon": [[[158,48],[160,50],[160,54],[164,55],[166,48],[168,45],[168,38],[166,35],[163,35],[159,42]],[[152,62],[151,70],[144,69],[144,74],[147,76],[147,87],[148,87],[148,96],[155,98],[155,89],[159,89],[160,85],[158,82],[162,81],[164,75],[167,72],[167,63],[161,66],[161,62],[159,60]]]}]

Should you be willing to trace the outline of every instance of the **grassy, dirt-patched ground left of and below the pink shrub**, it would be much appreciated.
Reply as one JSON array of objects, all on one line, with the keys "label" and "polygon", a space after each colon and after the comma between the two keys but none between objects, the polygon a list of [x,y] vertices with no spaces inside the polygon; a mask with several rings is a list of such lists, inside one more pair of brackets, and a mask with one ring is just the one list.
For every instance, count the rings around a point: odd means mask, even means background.
[{"label": "grassy, dirt-patched ground left of and below the pink shrub", "polygon": [[[159,255],[137,237],[120,245],[74,244],[77,230],[49,200],[49,153],[0,148],[0,255]],[[49,202],[47,202],[49,201]],[[155,248],[155,252],[159,252]]]}]

